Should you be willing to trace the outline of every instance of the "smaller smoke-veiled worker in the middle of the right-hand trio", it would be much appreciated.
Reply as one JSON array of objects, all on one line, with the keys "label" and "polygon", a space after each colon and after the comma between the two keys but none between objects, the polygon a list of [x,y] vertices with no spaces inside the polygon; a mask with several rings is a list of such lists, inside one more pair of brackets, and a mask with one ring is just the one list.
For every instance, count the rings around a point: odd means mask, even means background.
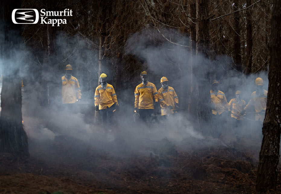
[{"label": "smaller smoke-veiled worker in the middle of the right-hand trio", "polygon": [[241,121],[243,120],[243,117],[241,117],[240,113],[244,109],[246,102],[241,99],[241,91],[237,90],[235,92],[236,98],[231,99],[228,102],[228,105],[231,109],[231,118],[233,121],[233,127],[237,128],[241,126]]}]

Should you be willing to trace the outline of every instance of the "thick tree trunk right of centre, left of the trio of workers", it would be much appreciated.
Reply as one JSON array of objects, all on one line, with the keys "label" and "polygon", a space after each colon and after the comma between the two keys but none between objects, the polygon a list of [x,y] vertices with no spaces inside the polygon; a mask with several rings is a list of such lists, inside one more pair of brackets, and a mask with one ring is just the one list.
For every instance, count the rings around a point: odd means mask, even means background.
[{"label": "thick tree trunk right of centre, left of the trio of workers", "polygon": [[[203,129],[206,122],[212,121],[210,105],[210,80],[209,80],[209,15],[208,0],[196,1],[196,105],[198,129],[203,134],[211,134],[212,127]],[[203,57],[202,57],[203,56]],[[203,58],[203,59],[202,59]]]}]

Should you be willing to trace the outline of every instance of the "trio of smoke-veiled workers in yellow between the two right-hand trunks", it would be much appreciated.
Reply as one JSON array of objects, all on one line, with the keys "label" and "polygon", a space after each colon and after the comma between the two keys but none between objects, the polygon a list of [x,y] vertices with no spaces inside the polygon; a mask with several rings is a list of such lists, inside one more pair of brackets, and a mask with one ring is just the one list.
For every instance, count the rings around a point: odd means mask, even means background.
[{"label": "trio of smoke-veiled workers in yellow between the two right-hand trunks", "polygon": [[[246,118],[246,114],[254,114],[254,121],[258,124],[262,124],[265,117],[266,105],[267,105],[267,90],[263,89],[263,79],[258,77],[255,80],[255,91],[251,94],[251,99],[247,103],[241,99],[241,91],[235,92],[235,98],[227,102],[225,94],[218,89],[219,82],[217,80],[212,81],[212,89],[210,90],[211,103],[212,103],[212,115],[215,125],[215,133],[219,137],[222,133],[222,124],[225,123],[224,112],[226,111],[231,115],[233,126],[240,127],[241,122]],[[254,112],[249,112],[254,108]]]}]

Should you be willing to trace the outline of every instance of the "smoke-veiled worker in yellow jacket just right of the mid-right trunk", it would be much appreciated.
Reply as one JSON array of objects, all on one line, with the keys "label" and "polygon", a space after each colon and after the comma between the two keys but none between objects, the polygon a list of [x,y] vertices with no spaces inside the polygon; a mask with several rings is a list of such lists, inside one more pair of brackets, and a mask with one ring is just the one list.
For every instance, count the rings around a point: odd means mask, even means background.
[{"label": "smoke-veiled worker in yellow jacket just right of the mid-right trunk", "polygon": [[220,137],[222,134],[222,126],[226,116],[223,112],[226,110],[230,113],[230,107],[225,98],[225,94],[219,89],[219,82],[215,79],[212,81],[212,89],[210,90],[212,117],[214,121],[215,134]]}]

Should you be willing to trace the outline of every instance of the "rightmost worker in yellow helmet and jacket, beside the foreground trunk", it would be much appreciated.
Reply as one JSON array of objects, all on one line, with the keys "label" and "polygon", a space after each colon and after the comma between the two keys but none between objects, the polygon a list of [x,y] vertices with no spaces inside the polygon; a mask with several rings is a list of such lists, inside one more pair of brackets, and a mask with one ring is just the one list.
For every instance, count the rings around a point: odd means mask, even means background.
[{"label": "rightmost worker in yellow helmet and jacket, beside the foreground trunk", "polygon": [[255,108],[255,121],[263,122],[265,117],[265,111],[267,107],[267,90],[263,89],[263,79],[258,77],[255,80],[256,91],[251,95],[251,99],[244,108],[244,111],[241,112],[241,115],[254,106]]}]

